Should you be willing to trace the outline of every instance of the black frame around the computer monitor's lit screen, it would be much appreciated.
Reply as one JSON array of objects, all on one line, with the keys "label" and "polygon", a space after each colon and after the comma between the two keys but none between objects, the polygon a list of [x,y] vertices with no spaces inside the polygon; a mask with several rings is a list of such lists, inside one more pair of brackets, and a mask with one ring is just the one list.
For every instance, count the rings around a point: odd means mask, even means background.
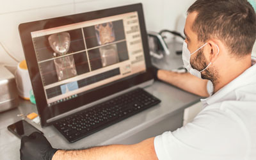
[{"label": "black frame around the computer monitor's lit screen", "polygon": [[[36,62],[36,54],[33,47],[31,32],[48,29],[45,28],[45,24],[47,22],[51,22],[51,28],[54,28],[58,26],[64,26],[93,19],[100,19],[129,12],[138,12],[138,17],[140,20],[141,39],[143,43],[147,71],[141,74],[136,74],[135,76],[125,77],[124,79],[120,79],[104,86],[100,86],[99,88],[90,90],[79,97],[67,100],[60,104],[56,104],[51,107],[47,106],[44,87],[39,73],[38,64]],[[72,19],[72,22],[66,22],[63,19]],[[152,73],[150,72],[151,62],[148,49],[147,30],[145,26],[143,8],[141,3],[131,4],[128,6],[120,6],[116,8],[109,8],[106,10],[98,10],[94,12],[67,15],[52,19],[38,20],[34,22],[26,22],[19,25],[19,33],[24,55],[28,65],[29,76],[31,79],[31,84],[36,100],[36,107],[38,109],[38,114],[40,115],[42,127],[52,124],[52,122],[47,122],[47,120],[49,120],[50,118],[61,115],[63,113],[67,113],[68,111],[71,111],[73,109],[79,108],[86,104],[90,104],[92,102],[95,102],[96,100],[108,97],[109,95],[113,95],[114,93],[121,92],[123,90],[126,90],[127,88],[131,88],[132,86],[136,86],[138,84],[153,79]]]}]

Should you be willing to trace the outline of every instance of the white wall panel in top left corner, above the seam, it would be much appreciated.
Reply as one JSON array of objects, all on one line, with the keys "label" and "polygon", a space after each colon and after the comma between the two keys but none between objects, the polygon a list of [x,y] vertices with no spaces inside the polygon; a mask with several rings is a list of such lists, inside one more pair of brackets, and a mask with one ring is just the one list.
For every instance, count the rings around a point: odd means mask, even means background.
[{"label": "white wall panel in top left corner, above the seam", "polygon": [[35,10],[35,8],[46,8],[50,6],[63,6],[72,4],[74,0],[9,0],[1,1],[0,14],[12,13],[22,10]]}]

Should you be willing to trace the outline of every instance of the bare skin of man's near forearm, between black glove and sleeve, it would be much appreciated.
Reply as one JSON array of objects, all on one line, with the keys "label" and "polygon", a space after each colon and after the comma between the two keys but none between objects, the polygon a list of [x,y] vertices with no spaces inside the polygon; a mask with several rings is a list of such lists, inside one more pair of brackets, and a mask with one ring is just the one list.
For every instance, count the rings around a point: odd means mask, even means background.
[{"label": "bare skin of man's near forearm, between black glove and sleeve", "polygon": [[58,150],[52,160],[83,160],[83,159],[157,159],[154,150],[154,138],[135,145],[109,145],[86,150]]}]

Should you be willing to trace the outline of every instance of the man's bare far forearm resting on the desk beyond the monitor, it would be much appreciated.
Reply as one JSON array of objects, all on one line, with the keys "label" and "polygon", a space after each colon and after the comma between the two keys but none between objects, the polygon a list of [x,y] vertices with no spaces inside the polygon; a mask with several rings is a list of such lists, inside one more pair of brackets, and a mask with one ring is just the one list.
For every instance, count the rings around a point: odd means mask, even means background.
[{"label": "man's bare far forearm resting on the desk beyond the monitor", "polygon": [[207,79],[200,79],[189,73],[177,73],[169,70],[158,70],[157,78],[195,95],[209,97]]}]

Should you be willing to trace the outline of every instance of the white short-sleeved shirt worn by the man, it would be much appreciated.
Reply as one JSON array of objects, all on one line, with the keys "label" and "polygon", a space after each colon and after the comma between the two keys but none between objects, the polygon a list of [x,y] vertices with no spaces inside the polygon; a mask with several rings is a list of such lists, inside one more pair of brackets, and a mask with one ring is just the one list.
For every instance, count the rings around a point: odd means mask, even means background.
[{"label": "white short-sleeved shirt worn by the man", "polygon": [[207,99],[193,122],[154,140],[158,159],[255,160],[256,65]]}]

